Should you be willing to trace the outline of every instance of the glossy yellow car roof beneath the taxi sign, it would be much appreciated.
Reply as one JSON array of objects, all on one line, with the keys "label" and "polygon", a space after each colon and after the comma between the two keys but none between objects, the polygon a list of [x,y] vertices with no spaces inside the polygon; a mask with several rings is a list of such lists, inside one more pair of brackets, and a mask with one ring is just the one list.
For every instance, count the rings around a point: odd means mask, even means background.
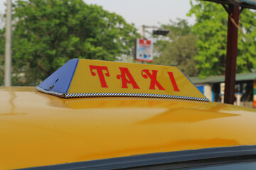
[{"label": "glossy yellow car roof beneath the taxi sign", "polygon": [[256,145],[256,111],[164,98],[58,98],[0,87],[0,169]]}]

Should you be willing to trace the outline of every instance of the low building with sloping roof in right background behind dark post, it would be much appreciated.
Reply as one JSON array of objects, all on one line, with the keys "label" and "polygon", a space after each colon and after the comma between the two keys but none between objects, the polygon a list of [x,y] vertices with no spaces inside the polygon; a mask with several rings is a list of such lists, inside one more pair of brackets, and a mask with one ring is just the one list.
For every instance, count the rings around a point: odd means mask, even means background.
[{"label": "low building with sloping roof in right background behind dark post", "polygon": [[[190,78],[193,84],[210,101],[224,101],[225,77],[214,76],[206,79]],[[235,76],[235,105],[256,108],[256,73],[236,74]]]}]

